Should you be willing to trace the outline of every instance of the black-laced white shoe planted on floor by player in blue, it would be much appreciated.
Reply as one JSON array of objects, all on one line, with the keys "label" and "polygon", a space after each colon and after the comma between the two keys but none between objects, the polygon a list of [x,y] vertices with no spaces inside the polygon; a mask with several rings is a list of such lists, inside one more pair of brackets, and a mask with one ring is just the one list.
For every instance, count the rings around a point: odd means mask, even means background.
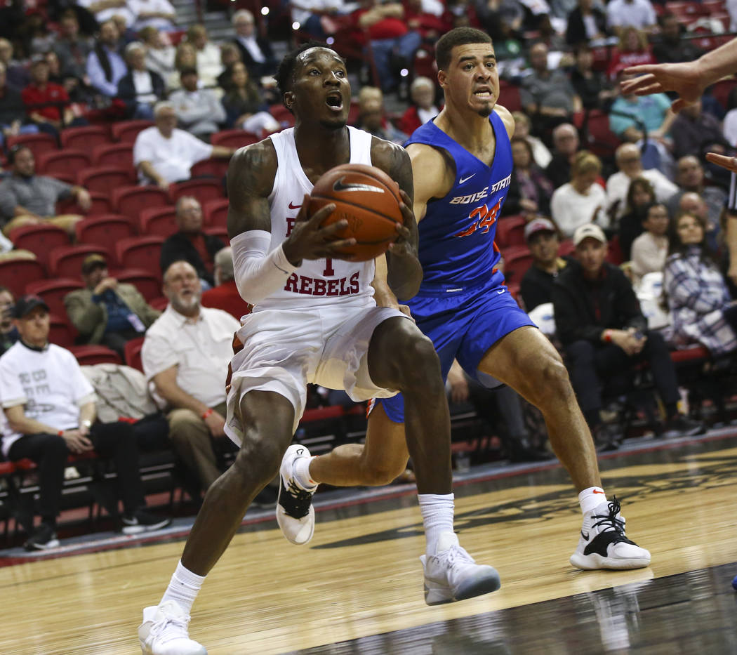
[{"label": "black-laced white shoe planted on floor by player in blue", "polygon": [[579,546],[570,556],[574,567],[595,569],[641,569],[650,565],[650,553],[624,534],[624,516],[616,497],[584,514]]}]

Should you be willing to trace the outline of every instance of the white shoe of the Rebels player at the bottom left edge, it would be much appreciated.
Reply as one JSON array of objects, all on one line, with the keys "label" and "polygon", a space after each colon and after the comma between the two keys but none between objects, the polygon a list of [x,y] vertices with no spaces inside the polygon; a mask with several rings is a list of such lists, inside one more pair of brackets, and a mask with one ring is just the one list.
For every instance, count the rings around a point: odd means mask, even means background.
[{"label": "white shoe of the Rebels player at the bottom left edge", "polygon": [[175,600],[146,607],[139,626],[144,655],[207,655],[203,645],[189,639],[189,616]]}]

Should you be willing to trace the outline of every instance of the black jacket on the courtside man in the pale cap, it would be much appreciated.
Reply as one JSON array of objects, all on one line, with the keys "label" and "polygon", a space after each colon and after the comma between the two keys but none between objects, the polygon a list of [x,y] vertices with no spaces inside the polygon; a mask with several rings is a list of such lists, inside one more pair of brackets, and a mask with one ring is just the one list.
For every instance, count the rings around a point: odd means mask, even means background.
[{"label": "black jacket on the courtside man in the pale cap", "polygon": [[574,261],[553,284],[556,332],[564,346],[579,340],[600,343],[607,328],[646,331],[647,320],[624,273],[609,262],[604,262],[601,273],[598,281],[587,281]]}]

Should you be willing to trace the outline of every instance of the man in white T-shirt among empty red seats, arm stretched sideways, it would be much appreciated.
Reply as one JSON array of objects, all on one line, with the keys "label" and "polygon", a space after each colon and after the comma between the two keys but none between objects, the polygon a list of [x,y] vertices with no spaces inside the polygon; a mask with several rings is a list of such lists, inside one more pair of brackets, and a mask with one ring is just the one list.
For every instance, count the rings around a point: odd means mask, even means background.
[{"label": "man in white T-shirt among empty red seats, arm stretched sideways", "polygon": [[168,189],[171,183],[189,180],[189,169],[198,161],[229,158],[234,153],[232,148],[208,145],[179,130],[177,113],[170,102],[159,102],[153,119],[156,125],[139,132],[133,144],[133,165],[139,170],[142,184],[153,183]]}]

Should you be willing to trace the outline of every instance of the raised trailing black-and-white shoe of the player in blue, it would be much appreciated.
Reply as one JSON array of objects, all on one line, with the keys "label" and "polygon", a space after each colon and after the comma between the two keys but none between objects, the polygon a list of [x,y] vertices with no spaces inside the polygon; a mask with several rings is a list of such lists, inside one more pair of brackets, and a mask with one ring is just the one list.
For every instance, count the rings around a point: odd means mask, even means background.
[{"label": "raised trailing black-and-white shoe of the player in blue", "polygon": [[279,468],[279,498],[276,500],[276,522],[287,541],[307,544],[315,533],[315,508],[312,507],[312,491],[301,488],[294,479],[296,460],[309,458],[310,451],[294,444],[287,448]]}]

